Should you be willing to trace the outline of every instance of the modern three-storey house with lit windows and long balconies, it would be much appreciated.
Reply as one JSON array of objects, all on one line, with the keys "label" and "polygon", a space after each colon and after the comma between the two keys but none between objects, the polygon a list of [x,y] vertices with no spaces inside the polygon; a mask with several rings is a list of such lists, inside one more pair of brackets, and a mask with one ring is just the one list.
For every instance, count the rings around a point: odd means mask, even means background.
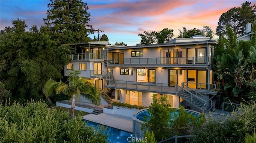
[{"label": "modern three-storey house with lit windows and long balconies", "polygon": [[217,94],[212,62],[215,40],[196,35],[169,43],[136,46],[106,45],[106,41],[70,44],[68,70],[100,87],[106,102],[112,100],[149,106],[151,96],[168,96],[172,107],[180,104],[202,112],[210,110]]}]

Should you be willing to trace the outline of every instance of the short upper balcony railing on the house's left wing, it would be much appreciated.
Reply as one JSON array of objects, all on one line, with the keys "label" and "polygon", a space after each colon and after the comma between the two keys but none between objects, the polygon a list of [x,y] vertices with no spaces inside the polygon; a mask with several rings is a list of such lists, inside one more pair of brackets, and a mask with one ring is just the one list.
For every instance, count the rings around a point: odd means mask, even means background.
[{"label": "short upper balcony railing on the house's left wing", "polygon": [[84,53],[68,55],[71,60],[107,59],[104,54]]}]

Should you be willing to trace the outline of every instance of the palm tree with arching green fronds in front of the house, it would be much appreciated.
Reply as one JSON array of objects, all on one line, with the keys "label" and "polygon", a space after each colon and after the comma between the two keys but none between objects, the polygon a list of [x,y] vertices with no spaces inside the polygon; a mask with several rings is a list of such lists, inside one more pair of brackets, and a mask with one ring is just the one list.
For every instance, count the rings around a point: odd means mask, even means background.
[{"label": "palm tree with arching green fronds in front of the house", "polygon": [[44,85],[43,91],[46,97],[55,90],[56,94],[67,95],[71,100],[71,118],[74,119],[74,108],[75,108],[75,96],[78,96],[78,102],[80,100],[80,95],[84,96],[87,100],[92,102],[92,104],[98,106],[100,104],[100,94],[95,85],[86,81],[85,78],[79,77],[80,71],[72,71],[68,74],[68,84],[60,81],[56,82],[53,79],[49,79]]}]

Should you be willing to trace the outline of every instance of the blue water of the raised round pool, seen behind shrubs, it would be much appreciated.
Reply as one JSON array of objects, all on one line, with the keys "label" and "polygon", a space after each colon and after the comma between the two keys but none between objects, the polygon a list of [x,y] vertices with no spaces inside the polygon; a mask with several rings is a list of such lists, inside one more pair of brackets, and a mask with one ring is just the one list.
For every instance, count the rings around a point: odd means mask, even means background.
[{"label": "blue water of the raised round pool, seen behind shrubs", "polygon": [[[188,112],[189,114],[191,114],[193,116],[199,117],[199,114],[196,113],[196,112],[191,112],[191,111],[188,111],[188,110],[186,110],[186,112]],[[179,116],[179,112],[178,111],[170,113],[170,119],[174,119],[174,117],[178,117],[178,116]],[[150,118],[150,114],[149,114],[148,110],[144,110],[142,112],[139,112],[136,115],[136,118],[139,119],[140,121],[144,121],[145,118]]]}]

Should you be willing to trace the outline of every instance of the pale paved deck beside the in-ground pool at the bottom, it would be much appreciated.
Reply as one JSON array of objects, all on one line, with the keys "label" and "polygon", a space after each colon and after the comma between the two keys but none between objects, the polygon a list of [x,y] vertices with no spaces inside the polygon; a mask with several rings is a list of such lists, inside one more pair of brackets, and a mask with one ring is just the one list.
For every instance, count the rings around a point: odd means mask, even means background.
[{"label": "pale paved deck beside the in-ground pool at the bottom", "polygon": [[88,114],[83,119],[132,133],[132,118],[126,116],[102,113]]}]

